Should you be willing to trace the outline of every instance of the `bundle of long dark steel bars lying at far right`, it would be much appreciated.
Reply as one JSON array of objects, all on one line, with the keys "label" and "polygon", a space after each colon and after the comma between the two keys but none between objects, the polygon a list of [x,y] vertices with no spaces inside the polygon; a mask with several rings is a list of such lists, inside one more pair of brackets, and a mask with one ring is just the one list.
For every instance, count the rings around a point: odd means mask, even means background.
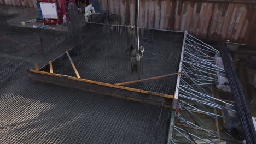
[{"label": "bundle of long dark steel bars lying at far right", "polygon": [[245,133],[246,143],[256,143],[256,132],[252,121],[251,112],[246,103],[245,95],[241,87],[241,83],[236,74],[236,70],[230,59],[225,44],[219,45],[220,55],[224,64],[226,75],[230,83],[232,95],[235,99],[237,115],[241,119],[242,128]]}]

